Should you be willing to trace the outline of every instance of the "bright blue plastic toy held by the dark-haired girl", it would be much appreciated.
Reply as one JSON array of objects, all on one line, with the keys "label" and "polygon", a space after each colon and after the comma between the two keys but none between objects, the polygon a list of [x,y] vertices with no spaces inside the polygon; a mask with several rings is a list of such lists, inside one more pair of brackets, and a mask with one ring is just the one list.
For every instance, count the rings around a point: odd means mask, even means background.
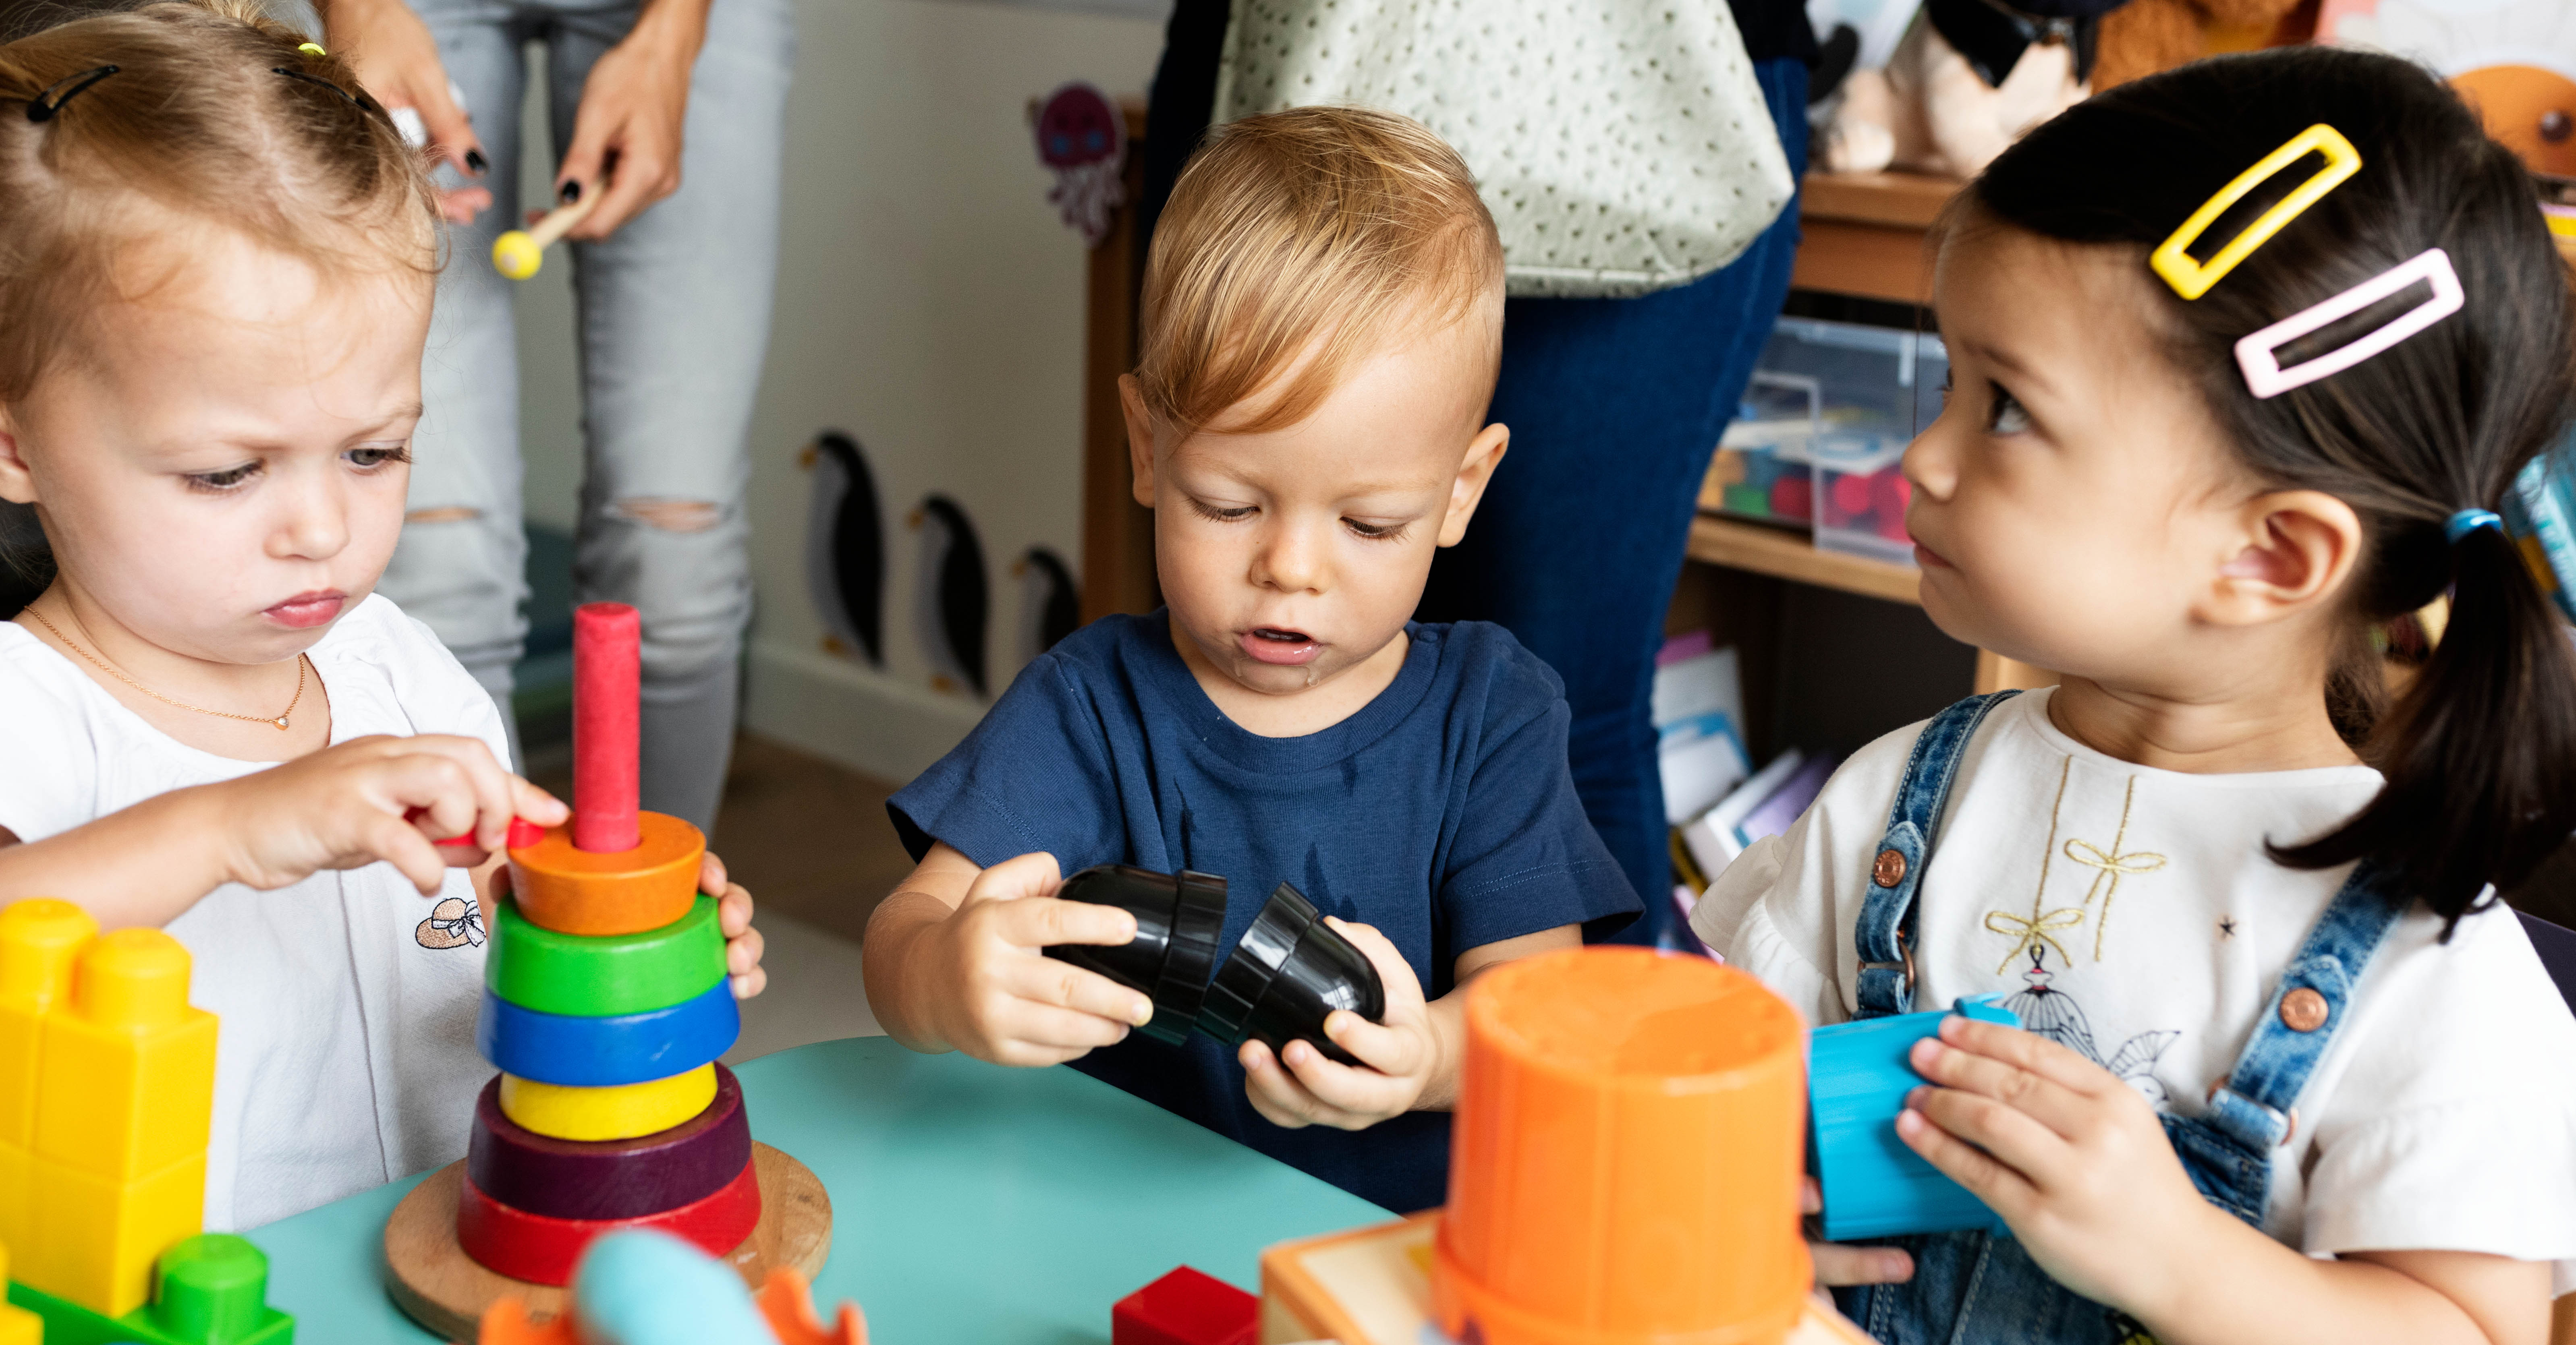
[{"label": "bright blue plastic toy held by the dark-haired girl", "polygon": [[[1953,1013],[2020,1028],[1994,995]],[[1924,1085],[1906,1054],[1950,1013],[1904,1013],[1816,1028],[1806,1038],[1808,1154],[1824,1188],[1826,1242],[1868,1242],[1950,1229],[2004,1232],[2004,1219],[1945,1178],[1896,1134],[1906,1092]]]}]

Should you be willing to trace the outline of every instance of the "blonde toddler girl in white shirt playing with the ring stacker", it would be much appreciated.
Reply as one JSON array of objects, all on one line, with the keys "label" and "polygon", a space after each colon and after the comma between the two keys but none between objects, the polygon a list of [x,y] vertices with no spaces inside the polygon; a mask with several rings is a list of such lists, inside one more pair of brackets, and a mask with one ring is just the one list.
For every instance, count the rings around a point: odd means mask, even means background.
[{"label": "blonde toddler girl in white shirt playing with the ring stacker", "polygon": [[[0,46],[0,497],[54,569],[0,621],[0,904],[188,946],[216,1229],[464,1154],[497,850],[567,812],[371,595],[435,263],[420,155],[250,0]],[[750,894],[701,884],[755,995]]]}]

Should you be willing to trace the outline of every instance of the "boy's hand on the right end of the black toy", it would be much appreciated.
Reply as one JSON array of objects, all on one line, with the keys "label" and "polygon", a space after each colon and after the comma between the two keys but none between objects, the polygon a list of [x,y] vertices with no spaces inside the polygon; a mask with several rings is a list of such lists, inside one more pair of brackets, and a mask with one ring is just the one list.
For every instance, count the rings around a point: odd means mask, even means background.
[{"label": "boy's hand on the right end of the black toy", "polygon": [[[1260,1041],[1244,1041],[1244,1098],[1275,1126],[1337,1126],[1365,1131],[1388,1116],[1404,1116],[1440,1074],[1443,1046],[1422,1002],[1422,982],[1404,953],[1368,925],[1324,917],[1342,930],[1386,984],[1386,1023],[1370,1023],[1350,1010],[1324,1018],[1324,1036],[1360,1059],[1365,1069],[1327,1059],[1311,1041],[1291,1041],[1278,1056]],[[1285,1069],[1283,1069],[1285,1064]]]}]

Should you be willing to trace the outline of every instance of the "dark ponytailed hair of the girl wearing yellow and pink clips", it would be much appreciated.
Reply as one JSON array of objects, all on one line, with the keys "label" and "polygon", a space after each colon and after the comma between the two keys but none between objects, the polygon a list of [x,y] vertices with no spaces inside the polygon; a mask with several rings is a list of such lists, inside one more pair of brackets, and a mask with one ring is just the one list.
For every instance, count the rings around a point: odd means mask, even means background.
[{"label": "dark ponytailed hair of the girl wearing yellow and pink clips", "polygon": [[[2318,121],[2360,149],[2357,175],[2200,299],[2148,278],[2148,247]],[[2218,216],[2195,255],[2311,173],[2306,162],[2277,173]],[[2375,719],[2362,755],[2385,788],[2342,827],[2272,848],[2295,868],[2375,866],[2429,904],[2450,938],[2488,884],[2517,884],[2576,827],[2568,629],[2501,531],[2445,536],[2455,513],[2499,508],[2576,405],[2568,271],[2532,178],[2427,70],[2298,46],[2195,62],[2079,103],[2004,149],[1971,191],[2012,227],[2136,255],[2169,330],[2166,353],[2200,384],[2244,464],[2352,505],[2367,528],[2349,585],[2354,639],[2365,624],[2452,595],[2442,644],[2385,714],[2367,714],[2375,660],[2326,688],[2329,706]],[[2246,392],[2239,338],[2429,247],[2458,268],[2460,312],[2280,397]],[[2293,343],[2282,363],[2354,340],[2424,291]]]}]

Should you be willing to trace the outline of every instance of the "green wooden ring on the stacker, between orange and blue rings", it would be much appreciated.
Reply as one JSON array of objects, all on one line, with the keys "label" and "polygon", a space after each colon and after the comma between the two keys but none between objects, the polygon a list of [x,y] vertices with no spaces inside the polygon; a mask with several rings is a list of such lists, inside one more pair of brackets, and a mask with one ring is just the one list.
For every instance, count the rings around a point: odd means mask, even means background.
[{"label": "green wooden ring on the stacker, between orange and blue rings", "polygon": [[706,995],[724,979],[724,930],[716,899],[698,897],[688,915],[634,935],[567,935],[528,922],[518,902],[500,899],[484,984],[523,1010],[616,1018],[665,1010]]}]

